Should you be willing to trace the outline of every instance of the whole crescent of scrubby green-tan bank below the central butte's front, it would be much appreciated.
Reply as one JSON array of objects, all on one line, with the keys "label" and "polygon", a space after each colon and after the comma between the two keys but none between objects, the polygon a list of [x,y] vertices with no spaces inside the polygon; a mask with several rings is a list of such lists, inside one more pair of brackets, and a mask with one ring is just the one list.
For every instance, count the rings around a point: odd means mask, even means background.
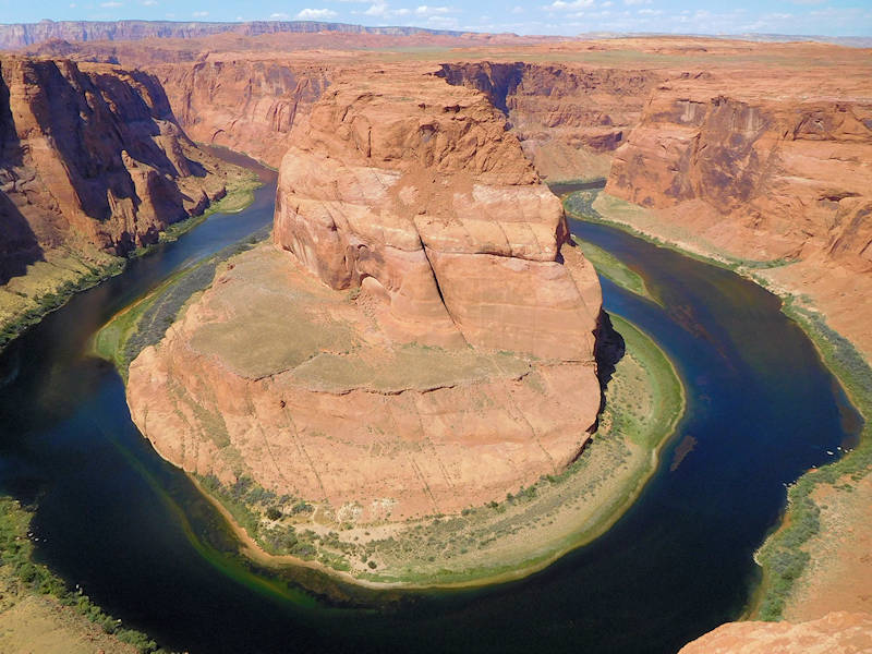
[{"label": "whole crescent of scrubby green-tan bank below the central butte's front", "polygon": [[[567,469],[460,514],[358,525],[360,507],[274,494],[247,477],[201,485],[269,554],[290,554],[376,583],[482,583],[546,566],[603,533],[653,474],[683,407],[681,384],[645,334],[614,317],[627,355],[606,391],[600,429]],[[535,375],[525,380],[535,383]],[[580,434],[580,437],[583,434]]]}]

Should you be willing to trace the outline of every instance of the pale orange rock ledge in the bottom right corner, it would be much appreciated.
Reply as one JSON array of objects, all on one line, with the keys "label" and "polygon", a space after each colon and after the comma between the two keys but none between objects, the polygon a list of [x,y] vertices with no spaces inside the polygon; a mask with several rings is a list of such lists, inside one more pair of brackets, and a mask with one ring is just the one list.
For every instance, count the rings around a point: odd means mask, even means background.
[{"label": "pale orange rock ledge in the bottom right corner", "polygon": [[831,613],[809,622],[729,622],[679,654],[862,654],[872,651],[872,616]]}]

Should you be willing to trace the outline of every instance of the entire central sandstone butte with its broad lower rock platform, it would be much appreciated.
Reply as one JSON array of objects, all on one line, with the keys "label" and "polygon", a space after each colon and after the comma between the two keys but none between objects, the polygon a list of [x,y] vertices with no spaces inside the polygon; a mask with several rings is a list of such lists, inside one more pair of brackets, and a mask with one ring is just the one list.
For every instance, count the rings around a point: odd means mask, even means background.
[{"label": "entire central sandstone butte with its broad lower rock platform", "polygon": [[340,519],[498,499],[589,438],[601,293],[505,118],[432,69],[315,104],[275,245],[233,259],[130,368],[167,459]]}]

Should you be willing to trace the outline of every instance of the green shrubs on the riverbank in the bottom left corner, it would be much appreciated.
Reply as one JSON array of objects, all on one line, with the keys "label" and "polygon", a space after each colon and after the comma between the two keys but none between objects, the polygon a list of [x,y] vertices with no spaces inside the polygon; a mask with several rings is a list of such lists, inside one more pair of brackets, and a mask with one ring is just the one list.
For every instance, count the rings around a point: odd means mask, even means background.
[{"label": "green shrubs on the riverbank in the bottom left corner", "polygon": [[14,603],[28,595],[52,596],[143,654],[164,653],[146,634],[122,627],[121,620],[105,614],[81,590],[70,590],[46,566],[34,561],[34,545],[28,537],[32,518],[33,513],[16,500],[0,496],[0,597]]}]

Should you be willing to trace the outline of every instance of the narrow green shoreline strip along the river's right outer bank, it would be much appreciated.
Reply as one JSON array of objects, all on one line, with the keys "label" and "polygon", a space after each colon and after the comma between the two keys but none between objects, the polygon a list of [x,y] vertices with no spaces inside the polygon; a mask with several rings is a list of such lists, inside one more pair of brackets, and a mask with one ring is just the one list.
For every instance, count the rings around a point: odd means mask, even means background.
[{"label": "narrow green shoreline strip along the river's right outer bank", "polygon": [[[782,302],[782,313],[792,320],[812,342],[821,362],[845,392],[853,410],[863,420],[858,444],[853,449],[843,452],[841,457],[831,463],[809,469],[787,487],[787,499],[778,522],[766,534],[754,552],[753,560],[761,570],[761,580],[753,590],[742,614],[737,619],[780,619],[791,593],[797,588],[797,582],[807,569],[807,561],[799,564],[798,571],[791,568],[778,576],[773,566],[764,560],[767,553],[780,547],[783,552],[786,550],[791,554],[795,560],[802,559],[802,555],[807,554],[802,546],[819,534],[816,525],[814,528],[809,526],[810,522],[816,520],[816,516],[811,516],[811,513],[820,510],[814,505],[814,500],[811,499],[813,491],[820,484],[834,485],[839,479],[850,474],[851,470],[862,467],[863,460],[867,460],[867,465],[872,464],[872,425],[870,425],[870,419],[872,419],[872,392],[869,389],[859,388],[858,379],[853,377],[860,373],[851,373],[844,367],[838,359],[856,356],[867,370],[869,370],[869,362],[852,341],[828,326],[824,313],[814,307],[799,304],[794,292],[761,278],[758,271],[761,268],[768,267],[764,265],[765,262],[758,262],[761,265],[756,267],[743,265],[739,259],[730,261],[727,257],[720,257],[714,253],[692,247],[680,240],[667,240],[661,234],[640,229],[632,222],[610,219],[593,207],[590,208],[596,214],[595,216],[570,210],[566,204],[564,206],[568,217],[572,220],[614,227],[654,245],[667,247],[685,256],[691,256],[704,263],[729,269],[773,293]],[[838,339],[844,342],[834,344],[833,341],[838,341]],[[833,351],[835,348],[849,349],[852,352],[836,352]],[[870,474],[869,469],[864,472],[865,474]],[[807,502],[811,502],[811,507]],[[806,521],[804,524],[803,520]],[[802,531],[799,536],[795,536],[794,532],[800,532],[800,530]],[[785,541],[787,541],[787,544],[785,544]],[[767,605],[770,608],[766,608]]]}]

